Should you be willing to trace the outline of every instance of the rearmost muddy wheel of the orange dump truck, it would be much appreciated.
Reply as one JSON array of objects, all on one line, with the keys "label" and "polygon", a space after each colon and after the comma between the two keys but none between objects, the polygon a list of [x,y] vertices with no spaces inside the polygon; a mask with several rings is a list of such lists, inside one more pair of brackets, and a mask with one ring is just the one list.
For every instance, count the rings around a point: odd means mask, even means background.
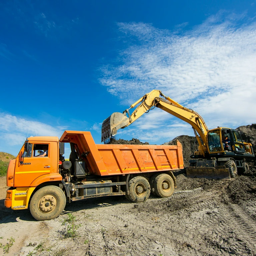
[{"label": "rearmost muddy wheel of the orange dump truck", "polygon": [[155,193],[160,197],[169,197],[174,191],[174,182],[170,175],[159,174],[154,182]]}]

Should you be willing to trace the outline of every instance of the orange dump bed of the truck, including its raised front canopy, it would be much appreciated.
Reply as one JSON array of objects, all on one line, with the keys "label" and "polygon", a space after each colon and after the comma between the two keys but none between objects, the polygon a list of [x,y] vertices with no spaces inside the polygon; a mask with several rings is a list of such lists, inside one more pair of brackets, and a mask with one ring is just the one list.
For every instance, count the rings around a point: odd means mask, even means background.
[{"label": "orange dump bed of the truck, including its raised front canopy", "polygon": [[[60,142],[72,142],[91,174],[118,174],[183,169],[182,145],[95,144],[90,132],[65,131]],[[85,156],[86,155],[86,156]]]}]

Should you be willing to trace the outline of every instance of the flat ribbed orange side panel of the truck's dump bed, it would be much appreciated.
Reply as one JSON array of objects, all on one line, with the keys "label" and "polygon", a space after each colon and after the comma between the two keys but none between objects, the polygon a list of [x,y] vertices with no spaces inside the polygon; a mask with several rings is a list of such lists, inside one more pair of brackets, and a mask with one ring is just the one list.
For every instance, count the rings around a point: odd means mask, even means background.
[{"label": "flat ribbed orange side panel of the truck's dump bed", "polygon": [[109,174],[183,169],[182,151],[179,152],[177,146],[101,144],[96,146]]}]

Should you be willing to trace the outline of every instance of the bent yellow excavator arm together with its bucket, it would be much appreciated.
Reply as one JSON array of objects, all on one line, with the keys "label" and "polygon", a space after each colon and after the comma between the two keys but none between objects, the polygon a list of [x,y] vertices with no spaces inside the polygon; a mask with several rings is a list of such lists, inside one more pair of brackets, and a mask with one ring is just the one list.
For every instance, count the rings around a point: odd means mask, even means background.
[{"label": "bent yellow excavator arm together with its bucket", "polygon": [[[137,108],[130,114],[129,110],[134,108],[137,104],[139,104]],[[123,113],[115,112],[105,119],[102,123],[101,141],[106,141],[110,137],[116,135],[118,129],[129,126],[144,113],[147,113],[154,107],[158,107],[189,123],[192,126],[199,143],[199,151],[202,152],[203,156],[205,155],[205,152],[207,151],[208,128],[203,118],[192,109],[185,108],[176,101],[172,100],[170,97],[165,96],[159,90],[153,90],[150,93],[145,94]]]}]

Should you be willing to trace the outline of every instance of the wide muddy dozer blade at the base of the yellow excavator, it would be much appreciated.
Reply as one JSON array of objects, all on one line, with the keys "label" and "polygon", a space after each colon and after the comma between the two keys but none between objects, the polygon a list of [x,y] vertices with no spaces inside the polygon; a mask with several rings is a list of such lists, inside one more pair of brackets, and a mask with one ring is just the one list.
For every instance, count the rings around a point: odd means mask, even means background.
[{"label": "wide muddy dozer blade at the base of the yellow excavator", "polygon": [[230,174],[226,166],[214,167],[194,167],[190,166],[186,169],[188,178],[205,178],[205,179],[219,179],[230,180]]}]

